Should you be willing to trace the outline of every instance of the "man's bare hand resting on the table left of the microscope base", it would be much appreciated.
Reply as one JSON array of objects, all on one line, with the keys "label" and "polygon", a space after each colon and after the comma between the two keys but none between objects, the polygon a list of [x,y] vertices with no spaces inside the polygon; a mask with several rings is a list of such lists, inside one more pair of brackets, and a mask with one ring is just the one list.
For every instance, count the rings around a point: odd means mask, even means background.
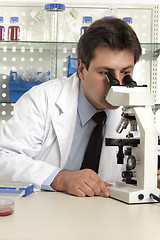
[{"label": "man's bare hand resting on the table left of the microscope base", "polygon": [[56,191],[67,192],[78,197],[92,197],[100,194],[108,197],[107,185],[109,184],[103,182],[97,173],[91,169],[62,170],[51,183],[51,187]]}]

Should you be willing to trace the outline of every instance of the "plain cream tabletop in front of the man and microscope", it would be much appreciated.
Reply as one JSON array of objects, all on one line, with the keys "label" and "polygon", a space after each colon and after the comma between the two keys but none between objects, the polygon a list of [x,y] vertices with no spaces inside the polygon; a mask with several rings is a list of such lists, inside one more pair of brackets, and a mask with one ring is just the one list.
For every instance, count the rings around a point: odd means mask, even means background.
[{"label": "plain cream tabletop in front of the man and microscope", "polygon": [[128,205],[104,197],[36,192],[0,217],[3,240],[159,239],[160,204]]}]

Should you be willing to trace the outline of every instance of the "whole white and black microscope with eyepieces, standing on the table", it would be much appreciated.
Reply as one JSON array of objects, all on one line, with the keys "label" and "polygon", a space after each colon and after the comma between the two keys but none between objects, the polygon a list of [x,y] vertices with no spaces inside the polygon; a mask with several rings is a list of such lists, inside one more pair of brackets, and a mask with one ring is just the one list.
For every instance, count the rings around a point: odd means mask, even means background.
[{"label": "whole white and black microscope with eyepieces, standing on the table", "polygon": [[[107,73],[108,91],[105,99],[113,106],[122,106],[118,133],[129,126],[125,138],[106,138],[106,146],[117,146],[117,164],[125,164],[122,181],[108,187],[110,197],[128,204],[160,201],[157,188],[158,132],[153,116],[154,95],[147,85],[137,85],[130,75],[120,85],[111,73]],[[134,137],[139,131],[140,137]]]}]

